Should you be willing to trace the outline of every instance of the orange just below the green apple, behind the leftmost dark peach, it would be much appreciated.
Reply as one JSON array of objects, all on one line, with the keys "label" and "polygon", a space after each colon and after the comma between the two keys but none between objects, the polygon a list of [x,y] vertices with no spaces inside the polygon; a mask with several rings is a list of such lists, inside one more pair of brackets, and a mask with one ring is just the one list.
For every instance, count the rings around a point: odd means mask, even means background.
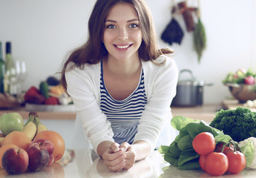
[{"label": "orange just below the green apple, behind the leftmost dark peach", "polygon": [[26,133],[21,131],[12,131],[7,136],[4,137],[4,140],[1,142],[1,145],[17,145],[19,148],[27,150],[28,145],[30,145],[30,138]]}]

